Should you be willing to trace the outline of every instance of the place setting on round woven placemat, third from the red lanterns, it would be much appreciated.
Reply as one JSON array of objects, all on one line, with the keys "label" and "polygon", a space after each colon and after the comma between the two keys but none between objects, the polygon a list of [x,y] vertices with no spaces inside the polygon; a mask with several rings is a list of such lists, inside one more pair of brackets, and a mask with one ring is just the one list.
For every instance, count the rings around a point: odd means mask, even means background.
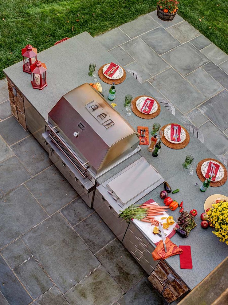
[{"label": "place setting on round woven placemat, third from the red lanterns", "polygon": [[161,130],[163,136],[161,140],[169,148],[182,149],[186,147],[190,141],[188,131],[181,125],[171,123],[164,125]]}]

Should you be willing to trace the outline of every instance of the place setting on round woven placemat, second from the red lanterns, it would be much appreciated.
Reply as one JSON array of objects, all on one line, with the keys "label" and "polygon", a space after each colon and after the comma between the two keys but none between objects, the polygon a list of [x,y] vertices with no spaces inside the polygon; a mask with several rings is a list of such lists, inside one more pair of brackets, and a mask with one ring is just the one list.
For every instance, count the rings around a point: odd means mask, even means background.
[{"label": "place setting on round woven placemat, second from the red lanterns", "polygon": [[138,96],[134,98],[132,106],[134,114],[143,119],[153,119],[161,111],[159,102],[151,96]]}]

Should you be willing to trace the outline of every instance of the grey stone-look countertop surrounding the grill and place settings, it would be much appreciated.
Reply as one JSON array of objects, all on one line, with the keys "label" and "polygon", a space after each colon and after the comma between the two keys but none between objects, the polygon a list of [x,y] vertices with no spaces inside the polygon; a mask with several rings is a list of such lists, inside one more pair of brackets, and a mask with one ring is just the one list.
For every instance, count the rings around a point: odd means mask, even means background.
[{"label": "grey stone-look countertop surrounding the grill and place settings", "polygon": [[[22,94],[29,100],[34,108],[47,119],[48,112],[53,108],[57,101],[65,93],[81,85],[82,83],[93,82],[93,78],[88,76],[88,64],[96,63],[98,67],[104,63],[114,61],[114,59],[103,46],[92,38],[87,32],[81,33],[71,39],[68,39],[56,46],[53,46],[38,54],[37,59],[44,62],[47,66],[47,83],[48,86],[42,91],[34,90],[30,83],[30,75],[22,70],[22,62],[16,63],[4,69],[5,74],[16,84]],[[109,84],[100,81],[103,88],[104,97],[108,96]],[[126,109],[123,106],[126,94],[132,94],[133,98],[140,95],[149,95],[150,93],[131,75],[127,74],[126,80],[116,85],[116,110],[124,116]],[[132,113],[130,117],[124,118],[137,129],[137,126],[148,126],[149,131],[152,129],[154,122],[159,122],[161,126],[167,123],[178,123],[175,118],[165,108],[161,108],[158,117],[151,120],[145,120],[137,117]],[[210,187],[205,193],[200,192],[199,180],[196,173],[189,176],[183,169],[182,163],[186,155],[192,155],[194,162],[199,162],[204,158],[216,158],[195,136],[190,133],[190,143],[187,147],[179,150],[173,150],[162,144],[162,149],[157,158],[152,157],[147,151],[147,146],[142,145],[142,150],[131,159],[124,161],[122,164],[112,169],[110,172],[100,177],[99,184],[112,177],[115,173],[136,161],[143,156],[150,162],[171,185],[171,188],[180,189],[177,194],[171,197],[177,201],[184,201],[184,208],[189,212],[191,209],[197,209],[198,215],[195,220],[197,226],[190,232],[188,238],[181,238],[178,234],[172,237],[172,242],[179,245],[190,245],[193,269],[180,269],[179,255],[172,256],[166,260],[173,270],[183,279],[190,289],[193,289],[204,279],[228,254],[228,247],[225,243],[219,242],[219,239],[211,233],[211,228],[203,230],[200,226],[200,214],[204,212],[203,205],[206,198],[212,194],[224,194],[227,196],[227,182],[225,185],[214,188]],[[162,205],[159,197],[163,185],[156,188],[147,196],[142,198],[139,203],[148,199],[154,199]],[[179,209],[169,213],[175,220],[179,217]]]}]

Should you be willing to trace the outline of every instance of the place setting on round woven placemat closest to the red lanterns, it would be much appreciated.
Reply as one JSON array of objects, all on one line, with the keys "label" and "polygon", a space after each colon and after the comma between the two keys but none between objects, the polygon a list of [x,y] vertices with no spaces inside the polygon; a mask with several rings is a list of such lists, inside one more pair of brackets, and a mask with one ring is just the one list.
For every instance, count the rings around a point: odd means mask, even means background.
[{"label": "place setting on round woven placemat closest to the red lanterns", "polygon": [[116,63],[107,63],[100,67],[98,70],[98,75],[100,79],[107,83],[112,84],[115,82],[115,85],[123,83],[126,78],[126,71],[120,65]]}]

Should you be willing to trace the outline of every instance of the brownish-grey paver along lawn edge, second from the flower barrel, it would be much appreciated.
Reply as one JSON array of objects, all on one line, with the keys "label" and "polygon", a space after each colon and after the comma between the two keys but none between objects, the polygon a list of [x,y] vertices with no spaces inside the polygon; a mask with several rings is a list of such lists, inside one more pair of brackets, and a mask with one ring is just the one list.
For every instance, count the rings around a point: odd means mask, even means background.
[{"label": "brownish-grey paver along lawn edge, second from the flower barrel", "polygon": [[191,26],[187,21],[180,22],[171,26],[167,31],[173,35],[179,42],[185,43],[200,35],[200,32]]}]

